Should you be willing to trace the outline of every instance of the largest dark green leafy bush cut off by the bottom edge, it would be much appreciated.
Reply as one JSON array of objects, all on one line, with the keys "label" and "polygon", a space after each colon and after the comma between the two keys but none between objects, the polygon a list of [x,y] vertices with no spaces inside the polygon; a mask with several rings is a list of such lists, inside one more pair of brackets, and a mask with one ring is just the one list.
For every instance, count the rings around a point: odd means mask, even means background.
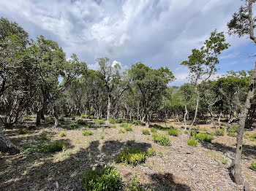
[{"label": "largest dark green leafy bush cut off by the bottom edge", "polygon": [[116,191],[123,190],[124,187],[122,178],[116,168],[109,165],[105,165],[105,167],[97,166],[94,170],[87,168],[81,182],[83,190],[91,191]]}]

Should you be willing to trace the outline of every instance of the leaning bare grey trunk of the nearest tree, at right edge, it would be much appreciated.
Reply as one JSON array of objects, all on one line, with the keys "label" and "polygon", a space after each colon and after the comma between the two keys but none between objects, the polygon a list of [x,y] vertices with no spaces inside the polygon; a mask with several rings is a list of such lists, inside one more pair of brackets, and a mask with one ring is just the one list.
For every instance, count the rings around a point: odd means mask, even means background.
[{"label": "leaning bare grey trunk of the nearest tree, at right edge", "polygon": [[234,178],[235,178],[236,184],[243,184],[244,182],[243,176],[241,174],[241,156],[242,156],[243,136],[244,136],[244,128],[246,125],[246,117],[252,104],[252,98],[255,95],[255,83],[256,83],[256,62],[255,62],[255,70],[253,71],[252,78],[250,80],[249,91],[246,97],[246,101],[241,110],[241,116],[240,116],[239,126],[238,126],[238,135],[236,137],[236,157],[234,161]]}]

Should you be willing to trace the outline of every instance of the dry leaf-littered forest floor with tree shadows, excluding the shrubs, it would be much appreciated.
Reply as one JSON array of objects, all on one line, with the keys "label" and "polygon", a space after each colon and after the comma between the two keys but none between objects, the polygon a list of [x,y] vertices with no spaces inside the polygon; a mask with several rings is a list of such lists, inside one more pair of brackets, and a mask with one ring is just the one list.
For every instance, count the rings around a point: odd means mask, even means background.
[{"label": "dry leaf-littered forest floor with tree shadows, excluding the shrubs", "polygon": [[[33,118],[34,120],[34,118]],[[33,123],[34,121],[26,123]],[[132,132],[120,133],[116,128],[106,125],[92,125],[92,136],[83,136],[83,125],[75,130],[65,128],[72,121],[65,118],[58,129],[48,128],[42,124],[36,130],[19,134],[18,128],[4,130],[4,133],[23,152],[17,155],[1,154],[0,190],[81,190],[80,178],[86,168],[99,164],[110,164],[120,172],[124,183],[132,182],[136,175],[140,184],[151,190],[241,190],[230,178],[230,164],[236,148],[236,137],[214,136],[211,143],[198,143],[197,147],[187,145],[187,134],[176,122],[173,125],[180,134],[169,136],[168,147],[155,143],[151,136],[142,134],[145,126],[132,125]],[[94,123],[94,120],[91,121]],[[154,123],[153,123],[154,124]],[[157,123],[165,127],[165,123]],[[212,125],[198,125],[204,132],[214,132]],[[67,136],[59,133],[65,131]],[[149,129],[148,129],[149,130]],[[158,133],[167,134],[165,128]],[[249,134],[255,131],[247,132]],[[34,152],[42,144],[42,135],[48,141],[62,140],[67,148],[61,152]],[[47,136],[45,136],[47,135]],[[104,137],[103,137],[104,136]],[[154,148],[157,155],[148,157],[146,163],[138,166],[115,163],[115,157],[127,148],[146,151]],[[256,190],[256,171],[249,169],[249,164],[256,158],[256,141],[244,139],[242,170],[252,190]]]}]

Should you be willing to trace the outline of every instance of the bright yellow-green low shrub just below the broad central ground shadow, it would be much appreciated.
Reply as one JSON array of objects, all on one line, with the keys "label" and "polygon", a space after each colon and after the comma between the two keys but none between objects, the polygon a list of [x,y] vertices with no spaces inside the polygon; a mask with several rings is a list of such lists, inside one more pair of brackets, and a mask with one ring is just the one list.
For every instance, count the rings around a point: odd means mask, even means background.
[{"label": "bright yellow-green low shrub just below the broad central ground shadow", "polygon": [[146,152],[140,149],[126,149],[124,152],[116,156],[116,163],[124,163],[129,165],[139,165],[145,163]]}]

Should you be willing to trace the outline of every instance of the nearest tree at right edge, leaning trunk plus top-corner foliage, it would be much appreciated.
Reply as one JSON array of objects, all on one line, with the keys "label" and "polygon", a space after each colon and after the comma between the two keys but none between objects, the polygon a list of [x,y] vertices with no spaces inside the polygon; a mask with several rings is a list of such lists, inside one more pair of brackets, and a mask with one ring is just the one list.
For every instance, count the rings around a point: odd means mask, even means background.
[{"label": "nearest tree at right edge, leaning trunk plus top-corner foliage", "polygon": [[[256,17],[253,15],[252,7],[255,0],[246,0],[244,6],[241,6],[239,11],[233,15],[232,20],[227,23],[229,34],[237,34],[239,37],[247,35],[253,42],[256,43],[256,36],[254,34]],[[252,72],[252,77],[249,83],[249,90],[246,101],[239,115],[238,136],[236,138],[236,157],[234,160],[234,178],[237,184],[243,184],[244,178],[241,173],[241,155],[243,147],[244,128],[246,126],[246,118],[249,109],[252,106],[252,99],[255,95],[256,85],[256,62],[255,69]]]}]

